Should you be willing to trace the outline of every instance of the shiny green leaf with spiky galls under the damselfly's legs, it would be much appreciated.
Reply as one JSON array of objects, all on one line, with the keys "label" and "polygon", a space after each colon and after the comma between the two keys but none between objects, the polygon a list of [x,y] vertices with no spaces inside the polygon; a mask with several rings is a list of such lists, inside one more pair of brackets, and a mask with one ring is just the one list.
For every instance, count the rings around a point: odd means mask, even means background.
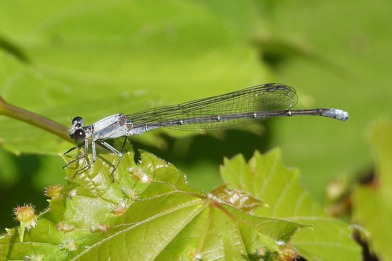
[{"label": "shiny green leaf with spiky galls under the damselfly's legs", "polygon": [[193,189],[181,171],[143,151],[138,164],[132,152],[124,154],[112,182],[118,160],[100,152],[94,165],[76,175],[86,161],[72,163],[67,184],[49,187],[49,209],[25,231],[23,242],[15,229],[0,238],[0,259],[278,258],[304,227],[247,214]]}]

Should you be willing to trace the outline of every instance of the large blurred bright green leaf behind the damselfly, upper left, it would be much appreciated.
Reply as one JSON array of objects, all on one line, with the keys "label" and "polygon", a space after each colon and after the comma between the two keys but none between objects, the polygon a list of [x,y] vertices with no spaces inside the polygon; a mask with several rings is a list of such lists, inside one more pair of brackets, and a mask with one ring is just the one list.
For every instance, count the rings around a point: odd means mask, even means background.
[{"label": "large blurred bright green leaf behind the damselfly, upper left", "polygon": [[[8,26],[4,38],[31,64],[0,49],[0,95],[65,126],[75,116],[94,123],[263,82],[265,70],[248,44],[256,20],[252,1],[232,3],[227,11],[238,6],[243,12],[235,17],[197,1],[20,4],[1,3],[0,23]],[[15,12],[23,23],[9,15]],[[0,141],[14,153],[53,155],[68,149],[68,142],[36,127],[4,117],[0,124]],[[153,133],[133,139],[163,146]]]}]

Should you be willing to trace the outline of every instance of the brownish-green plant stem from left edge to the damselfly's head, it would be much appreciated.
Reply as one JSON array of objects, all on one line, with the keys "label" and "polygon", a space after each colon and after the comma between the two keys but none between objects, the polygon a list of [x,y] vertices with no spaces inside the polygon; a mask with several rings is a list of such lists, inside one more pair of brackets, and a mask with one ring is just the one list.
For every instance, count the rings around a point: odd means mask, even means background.
[{"label": "brownish-green plant stem from left edge to the damselfly's head", "polygon": [[31,125],[49,131],[63,140],[74,143],[68,133],[68,128],[51,119],[45,118],[33,112],[26,111],[22,108],[16,107],[6,103],[0,96],[0,115],[5,115],[14,119],[19,119]]}]

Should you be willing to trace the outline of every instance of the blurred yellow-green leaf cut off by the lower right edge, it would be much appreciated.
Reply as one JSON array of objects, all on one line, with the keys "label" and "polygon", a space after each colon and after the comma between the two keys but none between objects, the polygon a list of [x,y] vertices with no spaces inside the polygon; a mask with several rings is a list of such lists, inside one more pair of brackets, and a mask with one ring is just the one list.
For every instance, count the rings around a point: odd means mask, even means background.
[{"label": "blurred yellow-green leaf cut off by the lower right edge", "polygon": [[371,252],[381,260],[392,259],[392,122],[380,121],[371,130],[376,166],[374,181],[353,192],[353,220],[370,233]]}]

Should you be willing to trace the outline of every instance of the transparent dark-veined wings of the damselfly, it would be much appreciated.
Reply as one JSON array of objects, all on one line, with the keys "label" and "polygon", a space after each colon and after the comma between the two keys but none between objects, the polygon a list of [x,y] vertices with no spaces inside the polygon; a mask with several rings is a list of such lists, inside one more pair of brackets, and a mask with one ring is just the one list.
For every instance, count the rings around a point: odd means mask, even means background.
[{"label": "transparent dark-veined wings of the damselfly", "polygon": [[[289,110],[297,103],[294,88],[268,83],[213,97],[163,106],[129,114],[125,117],[134,127],[160,124],[173,120],[195,119],[230,114]],[[221,130],[261,121],[263,119],[232,119],[170,126],[191,131]],[[165,126],[165,124],[162,124]]]}]

